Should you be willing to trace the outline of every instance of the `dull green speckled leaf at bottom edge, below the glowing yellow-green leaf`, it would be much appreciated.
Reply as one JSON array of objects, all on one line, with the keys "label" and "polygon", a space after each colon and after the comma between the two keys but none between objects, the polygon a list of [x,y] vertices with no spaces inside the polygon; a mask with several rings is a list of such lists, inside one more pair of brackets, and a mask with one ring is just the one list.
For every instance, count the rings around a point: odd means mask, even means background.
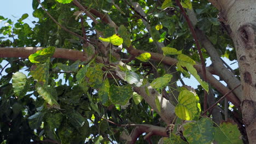
[{"label": "dull green speckled leaf at bottom edge, below the glowing yellow-green leaf", "polygon": [[185,124],[183,135],[190,144],[211,143],[214,137],[213,122],[210,118],[202,117],[197,122]]}]

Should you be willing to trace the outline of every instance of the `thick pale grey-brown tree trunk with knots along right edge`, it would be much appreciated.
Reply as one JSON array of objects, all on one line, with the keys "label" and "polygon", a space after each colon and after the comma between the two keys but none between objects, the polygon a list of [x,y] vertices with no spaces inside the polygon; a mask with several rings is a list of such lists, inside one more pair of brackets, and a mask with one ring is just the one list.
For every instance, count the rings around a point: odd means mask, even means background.
[{"label": "thick pale grey-brown tree trunk with knots along right edge", "polygon": [[256,1],[210,1],[234,41],[239,64],[243,122],[249,143],[256,143]]}]

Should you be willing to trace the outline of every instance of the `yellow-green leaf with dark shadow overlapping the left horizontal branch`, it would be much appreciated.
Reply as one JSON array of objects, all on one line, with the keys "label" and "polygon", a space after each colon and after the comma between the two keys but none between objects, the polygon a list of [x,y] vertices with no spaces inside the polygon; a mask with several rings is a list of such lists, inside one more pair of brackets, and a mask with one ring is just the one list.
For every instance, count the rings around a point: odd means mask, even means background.
[{"label": "yellow-green leaf with dark shadow overlapping the left horizontal branch", "polygon": [[49,46],[45,49],[38,50],[37,52],[31,54],[28,59],[31,63],[44,63],[49,57],[52,57],[55,52],[54,46]]}]

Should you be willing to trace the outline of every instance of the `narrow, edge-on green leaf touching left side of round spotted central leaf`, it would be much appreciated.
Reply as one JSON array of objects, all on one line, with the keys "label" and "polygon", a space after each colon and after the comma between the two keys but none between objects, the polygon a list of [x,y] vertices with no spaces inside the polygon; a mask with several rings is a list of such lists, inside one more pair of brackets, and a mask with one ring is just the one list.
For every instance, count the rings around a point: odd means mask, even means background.
[{"label": "narrow, edge-on green leaf touching left side of round spotted central leaf", "polygon": [[108,101],[109,88],[110,88],[109,81],[108,79],[105,79],[102,87],[98,90],[98,96],[102,104],[105,104]]}]

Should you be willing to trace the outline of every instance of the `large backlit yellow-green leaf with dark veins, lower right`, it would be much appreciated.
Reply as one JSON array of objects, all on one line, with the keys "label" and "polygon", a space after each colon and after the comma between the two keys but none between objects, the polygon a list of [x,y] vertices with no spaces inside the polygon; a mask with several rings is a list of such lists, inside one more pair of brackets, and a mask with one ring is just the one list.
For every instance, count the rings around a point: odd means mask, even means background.
[{"label": "large backlit yellow-green leaf with dark veins, lower right", "polygon": [[193,120],[198,114],[195,94],[188,90],[181,91],[178,97],[178,104],[175,107],[175,113],[181,119]]}]

